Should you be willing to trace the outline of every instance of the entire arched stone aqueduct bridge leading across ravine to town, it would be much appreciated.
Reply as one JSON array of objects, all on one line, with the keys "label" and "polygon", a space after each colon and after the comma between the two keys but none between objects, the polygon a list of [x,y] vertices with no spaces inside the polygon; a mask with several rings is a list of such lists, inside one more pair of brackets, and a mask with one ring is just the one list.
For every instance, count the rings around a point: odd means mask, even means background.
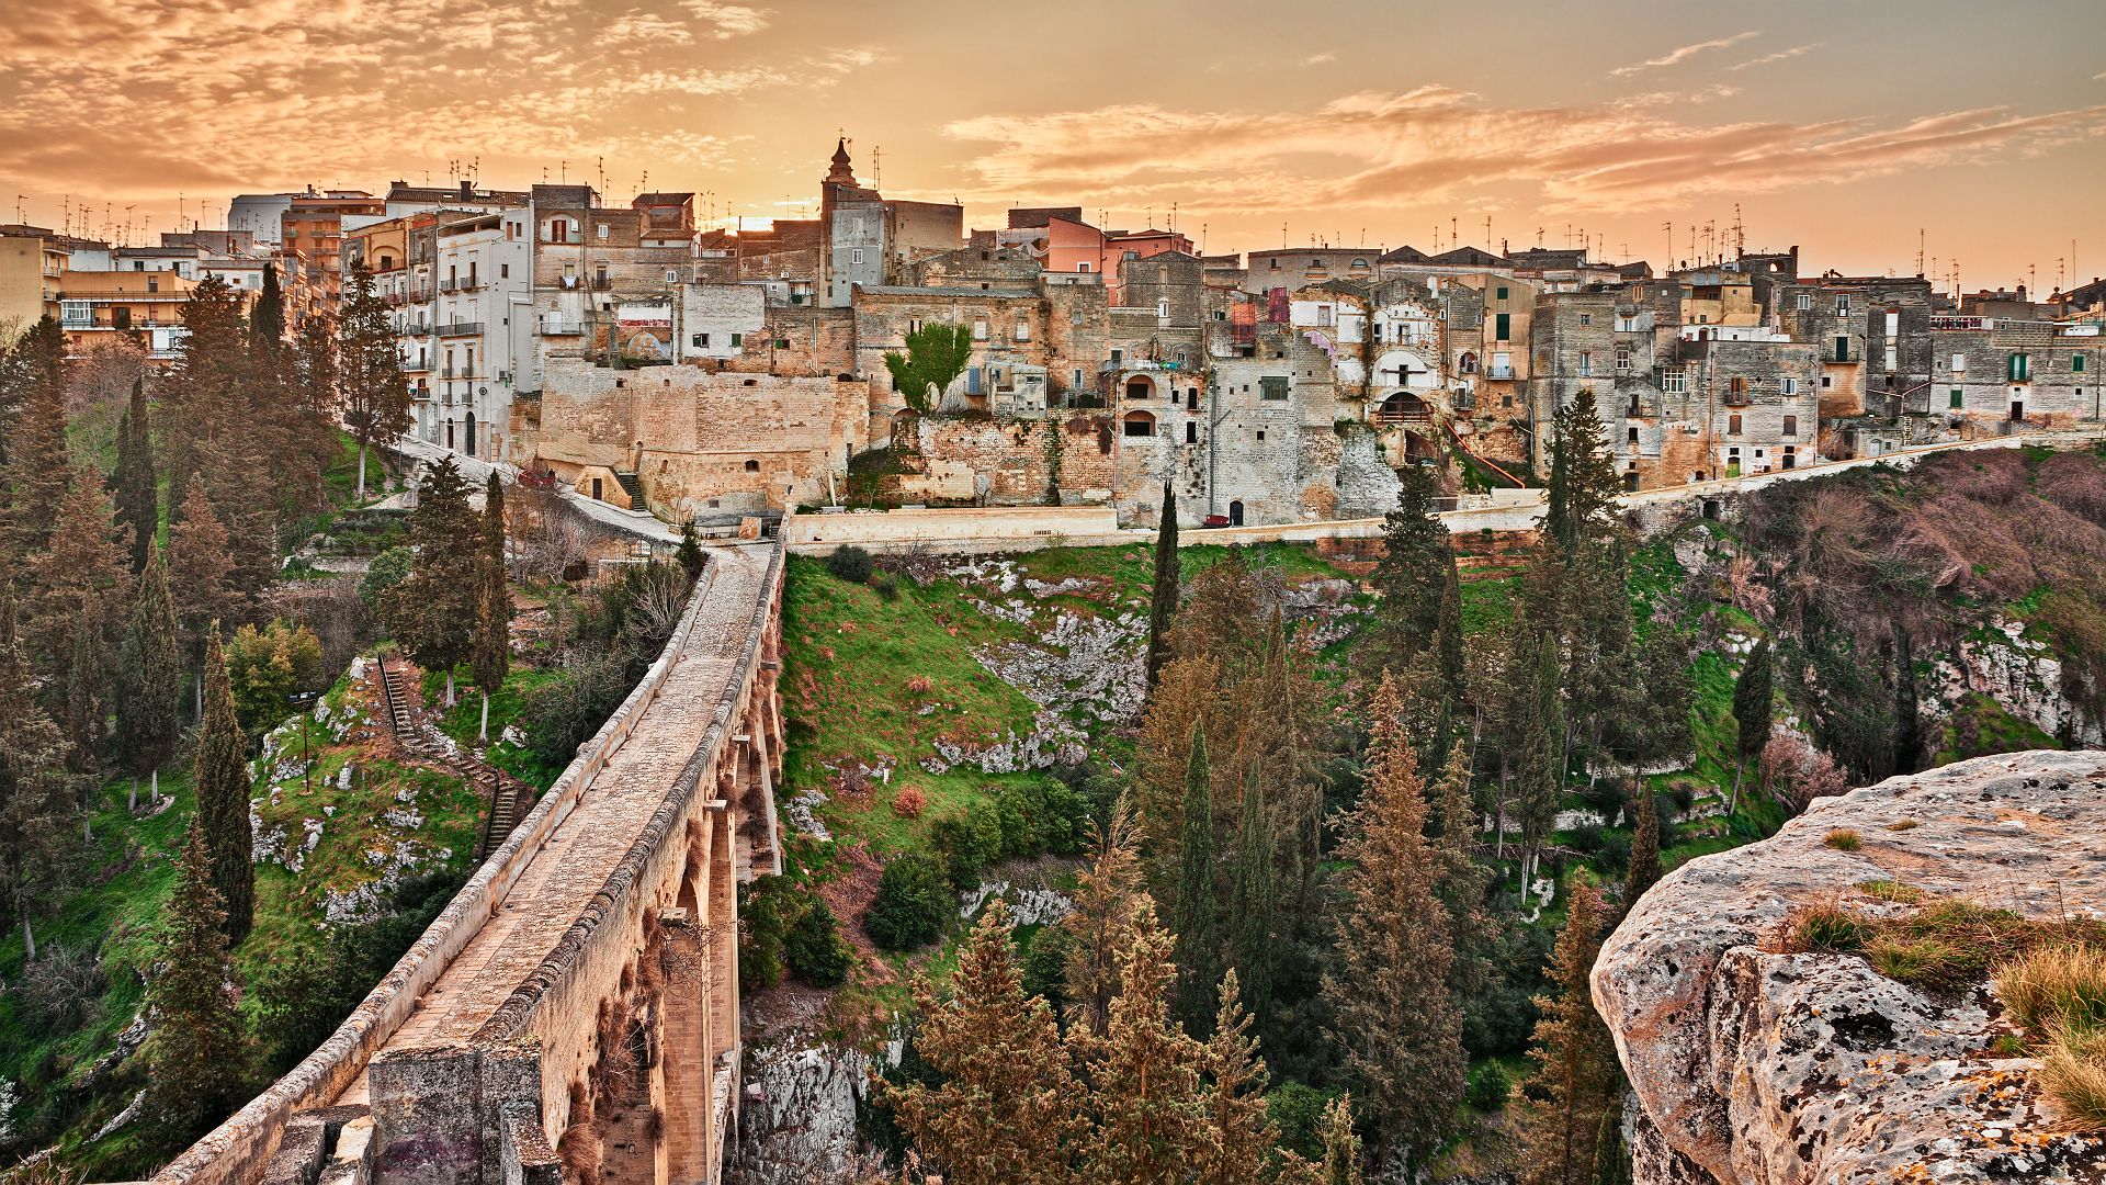
[{"label": "entire arched stone aqueduct bridge leading across ravine to town", "polygon": [[737,883],[781,871],[783,552],[712,548],[665,652],[337,1033],[156,1185],[716,1181]]}]

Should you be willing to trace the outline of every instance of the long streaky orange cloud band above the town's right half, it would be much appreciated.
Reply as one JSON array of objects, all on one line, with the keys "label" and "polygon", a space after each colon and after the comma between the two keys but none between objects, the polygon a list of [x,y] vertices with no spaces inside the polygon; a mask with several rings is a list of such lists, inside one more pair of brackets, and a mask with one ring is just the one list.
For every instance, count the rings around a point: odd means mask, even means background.
[{"label": "long streaky orange cloud band above the town's right half", "polygon": [[[1729,89],[1727,89],[1729,93]],[[1700,122],[1697,95],[1573,108],[1497,108],[1451,86],[1363,91],[1278,114],[1127,103],[975,116],[946,135],[988,148],[969,202],[1066,200],[1188,213],[1403,207],[1533,186],[1544,209],[1643,209],[1695,194],[1853,181],[1982,162],[2106,135],[2106,105],[1940,112],[1902,122]]]}]

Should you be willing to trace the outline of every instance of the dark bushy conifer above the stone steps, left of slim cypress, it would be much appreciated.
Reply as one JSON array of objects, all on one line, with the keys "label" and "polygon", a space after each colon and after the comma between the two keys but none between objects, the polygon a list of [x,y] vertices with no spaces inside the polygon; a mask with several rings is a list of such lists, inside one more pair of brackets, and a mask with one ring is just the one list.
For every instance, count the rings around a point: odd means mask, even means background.
[{"label": "dark bushy conifer above the stone steps, left of slim cypress", "polygon": [[482,521],[468,504],[468,483],[451,455],[430,468],[417,491],[409,546],[415,565],[381,597],[381,622],[419,666],[446,673],[451,706],[453,668],[474,652],[478,590],[489,563]]}]

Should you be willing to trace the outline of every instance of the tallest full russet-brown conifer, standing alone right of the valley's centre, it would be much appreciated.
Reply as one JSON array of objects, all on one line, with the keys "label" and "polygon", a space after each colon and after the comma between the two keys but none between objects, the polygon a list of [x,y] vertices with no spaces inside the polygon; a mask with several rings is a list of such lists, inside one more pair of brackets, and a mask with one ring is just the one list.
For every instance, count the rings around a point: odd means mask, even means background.
[{"label": "tallest full russet-brown conifer, standing alone right of the valley's centre", "polygon": [[1388,675],[1369,702],[1367,784],[1346,818],[1331,1031],[1384,1143],[1422,1158],[1451,1130],[1466,1058],[1453,936],[1434,888],[1426,786]]}]

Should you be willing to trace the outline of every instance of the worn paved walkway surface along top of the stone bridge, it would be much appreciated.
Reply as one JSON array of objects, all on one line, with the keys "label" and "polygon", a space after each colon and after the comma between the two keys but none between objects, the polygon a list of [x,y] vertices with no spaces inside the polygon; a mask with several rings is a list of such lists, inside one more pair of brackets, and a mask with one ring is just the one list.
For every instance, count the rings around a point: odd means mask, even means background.
[{"label": "worn paved walkway surface along top of the stone bridge", "polygon": [[[463,1042],[541,966],[636,843],[737,687],[773,548],[710,548],[695,628],[628,740],[381,1050]],[[377,1056],[377,1054],[375,1054]],[[337,1099],[366,1103],[366,1075]]]}]

